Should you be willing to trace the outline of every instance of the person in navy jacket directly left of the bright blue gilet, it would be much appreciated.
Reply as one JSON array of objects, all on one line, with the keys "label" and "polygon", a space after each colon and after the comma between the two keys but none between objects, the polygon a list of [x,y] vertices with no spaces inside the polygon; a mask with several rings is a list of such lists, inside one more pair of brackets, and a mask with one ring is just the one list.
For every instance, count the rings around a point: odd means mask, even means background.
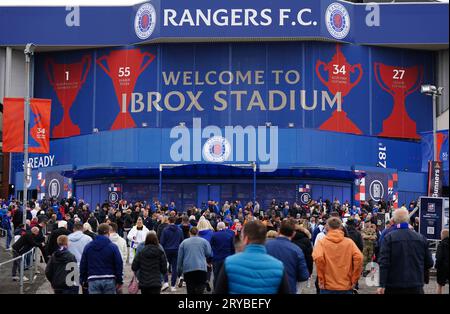
[{"label": "person in navy jacket directly left of the bright blue gilet", "polygon": [[215,285],[225,258],[235,252],[234,232],[229,232],[223,221],[217,224],[217,231],[211,237],[211,248],[213,251],[212,263]]}]

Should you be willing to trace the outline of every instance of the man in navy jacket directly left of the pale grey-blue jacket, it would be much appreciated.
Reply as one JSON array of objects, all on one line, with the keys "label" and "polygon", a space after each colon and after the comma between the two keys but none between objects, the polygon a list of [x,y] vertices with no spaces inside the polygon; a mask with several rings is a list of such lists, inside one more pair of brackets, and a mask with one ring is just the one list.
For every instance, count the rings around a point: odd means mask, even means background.
[{"label": "man in navy jacket directly left of the pale grey-blue jacket", "polygon": [[[183,232],[181,229],[175,225],[176,218],[171,216],[169,217],[169,225],[164,228],[160,243],[166,252],[167,261],[169,262],[170,269],[172,271],[171,277],[171,287],[170,290],[172,292],[176,291],[175,285],[177,283],[177,259],[178,259],[178,249],[180,247],[180,243],[184,240]],[[165,275],[164,284],[161,288],[162,291],[166,290],[169,287],[168,284],[169,277]]]}]

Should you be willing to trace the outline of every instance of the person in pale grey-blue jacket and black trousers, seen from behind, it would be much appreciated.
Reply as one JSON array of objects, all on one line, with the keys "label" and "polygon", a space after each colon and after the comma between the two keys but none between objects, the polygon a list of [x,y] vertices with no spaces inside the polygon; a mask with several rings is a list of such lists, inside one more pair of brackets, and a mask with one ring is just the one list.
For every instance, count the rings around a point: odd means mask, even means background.
[{"label": "person in pale grey-blue jacket and black trousers, seen from behind", "polygon": [[178,249],[178,274],[183,274],[188,294],[203,294],[206,287],[207,264],[212,250],[209,242],[198,236],[197,227],[189,230],[190,237]]}]

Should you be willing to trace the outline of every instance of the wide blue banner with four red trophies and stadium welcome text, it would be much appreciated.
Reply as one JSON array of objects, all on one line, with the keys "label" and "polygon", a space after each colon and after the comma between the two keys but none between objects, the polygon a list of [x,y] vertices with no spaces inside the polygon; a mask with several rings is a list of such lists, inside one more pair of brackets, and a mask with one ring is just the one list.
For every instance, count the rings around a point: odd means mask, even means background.
[{"label": "wide blue banner with four red trophies and stadium welcome text", "polygon": [[[36,56],[52,138],[131,128],[265,125],[420,139],[427,51],[324,42],[165,44]],[[270,121],[269,121],[270,120]]]}]

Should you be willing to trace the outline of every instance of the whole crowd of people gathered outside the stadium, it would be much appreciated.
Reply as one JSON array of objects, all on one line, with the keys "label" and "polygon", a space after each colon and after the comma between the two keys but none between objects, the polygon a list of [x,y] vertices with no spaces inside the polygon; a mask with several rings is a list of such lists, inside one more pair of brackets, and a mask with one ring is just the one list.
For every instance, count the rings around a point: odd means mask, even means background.
[{"label": "whole crowd of people gathered outside the stadium", "polygon": [[[174,202],[121,200],[91,210],[81,199],[44,199],[27,204],[25,224],[19,201],[0,200],[0,208],[7,248],[13,257],[39,248],[55,293],[121,293],[126,265],[134,274],[130,293],[142,294],[184,285],[188,294],[295,294],[310,281],[318,294],[355,294],[374,262],[380,294],[423,293],[433,266],[436,292],[448,282],[448,230],[434,262],[418,232],[416,202],[210,200],[179,210]],[[17,271],[18,262],[13,280]]]}]

